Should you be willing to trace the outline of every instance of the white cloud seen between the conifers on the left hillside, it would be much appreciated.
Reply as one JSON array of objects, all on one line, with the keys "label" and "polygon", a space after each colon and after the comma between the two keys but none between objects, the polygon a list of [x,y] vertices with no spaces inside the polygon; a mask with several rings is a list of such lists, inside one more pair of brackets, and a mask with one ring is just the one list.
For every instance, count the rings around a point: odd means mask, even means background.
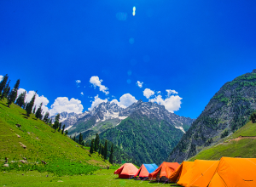
[{"label": "white cloud seen between the conifers on the left hillside", "polygon": [[[25,92],[25,91],[26,91],[25,89],[19,88],[19,89],[18,89],[18,96],[19,96],[21,93]],[[27,92],[27,93],[26,93],[25,102],[27,102],[27,103],[30,102],[34,94],[35,94],[35,91],[29,91],[29,92]],[[17,98],[18,98],[18,97],[17,97]],[[36,94],[36,99],[35,99],[34,106],[37,106],[37,108],[38,108],[38,106],[39,106],[41,103],[43,103],[42,109],[43,109],[44,113],[45,113],[46,111],[49,111],[48,107],[46,106],[46,105],[49,104],[49,100],[48,100],[47,98],[45,98],[44,95],[39,96],[38,94]]]}]

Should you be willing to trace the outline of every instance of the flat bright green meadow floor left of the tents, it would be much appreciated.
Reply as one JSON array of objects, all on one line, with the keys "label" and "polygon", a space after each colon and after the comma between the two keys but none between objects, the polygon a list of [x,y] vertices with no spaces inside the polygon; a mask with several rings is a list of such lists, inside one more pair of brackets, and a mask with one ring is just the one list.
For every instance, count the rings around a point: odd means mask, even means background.
[{"label": "flat bright green meadow floor left of the tents", "polygon": [[[0,173],[0,186],[179,186],[177,184],[162,184],[154,181],[122,179],[113,174],[114,169],[102,169],[90,175],[74,175],[57,177],[52,173],[38,173],[37,171],[11,171]],[[24,175],[22,175],[24,174]],[[48,177],[46,177],[48,175]]]}]

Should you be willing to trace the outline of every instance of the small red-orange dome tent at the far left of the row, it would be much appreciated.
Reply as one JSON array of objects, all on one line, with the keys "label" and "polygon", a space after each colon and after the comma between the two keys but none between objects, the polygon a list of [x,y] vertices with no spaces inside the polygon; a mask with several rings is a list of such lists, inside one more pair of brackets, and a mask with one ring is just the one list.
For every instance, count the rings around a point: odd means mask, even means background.
[{"label": "small red-orange dome tent at the far left of the row", "polygon": [[125,163],[114,174],[119,174],[119,178],[131,178],[137,173],[138,169],[132,163]]}]

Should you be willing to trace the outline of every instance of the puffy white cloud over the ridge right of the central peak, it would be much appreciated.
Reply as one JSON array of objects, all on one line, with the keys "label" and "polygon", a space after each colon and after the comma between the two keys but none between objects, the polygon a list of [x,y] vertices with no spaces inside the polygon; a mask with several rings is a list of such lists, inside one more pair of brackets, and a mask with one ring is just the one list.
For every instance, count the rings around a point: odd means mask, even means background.
[{"label": "puffy white cloud over the ridge right of the central peak", "polygon": [[161,95],[155,96],[154,99],[149,99],[150,102],[155,102],[159,105],[164,105],[167,111],[173,113],[173,111],[178,111],[181,105],[181,97],[178,95],[172,95],[166,99],[162,99]]}]

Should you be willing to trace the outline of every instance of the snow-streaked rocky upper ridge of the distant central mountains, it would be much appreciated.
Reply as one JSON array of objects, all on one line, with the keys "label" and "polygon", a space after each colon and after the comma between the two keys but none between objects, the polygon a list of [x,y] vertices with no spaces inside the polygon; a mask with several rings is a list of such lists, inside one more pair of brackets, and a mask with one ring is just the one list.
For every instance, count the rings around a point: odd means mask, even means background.
[{"label": "snow-streaked rocky upper ridge of the distant central mountains", "polygon": [[[101,133],[109,127],[116,127],[125,118],[134,113],[137,113],[139,116],[147,116],[151,119],[156,118],[159,121],[165,120],[173,125],[173,127],[180,129],[183,133],[185,133],[185,129],[194,121],[189,117],[178,116],[167,111],[163,105],[143,102],[140,99],[125,109],[113,102],[103,102],[97,105],[92,111],[85,111],[81,114],[61,112],[60,122],[65,124],[66,129],[69,130],[69,134],[84,133],[89,130],[95,130],[97,133]],[[51,117],[54,121],[55,116]]]}]

